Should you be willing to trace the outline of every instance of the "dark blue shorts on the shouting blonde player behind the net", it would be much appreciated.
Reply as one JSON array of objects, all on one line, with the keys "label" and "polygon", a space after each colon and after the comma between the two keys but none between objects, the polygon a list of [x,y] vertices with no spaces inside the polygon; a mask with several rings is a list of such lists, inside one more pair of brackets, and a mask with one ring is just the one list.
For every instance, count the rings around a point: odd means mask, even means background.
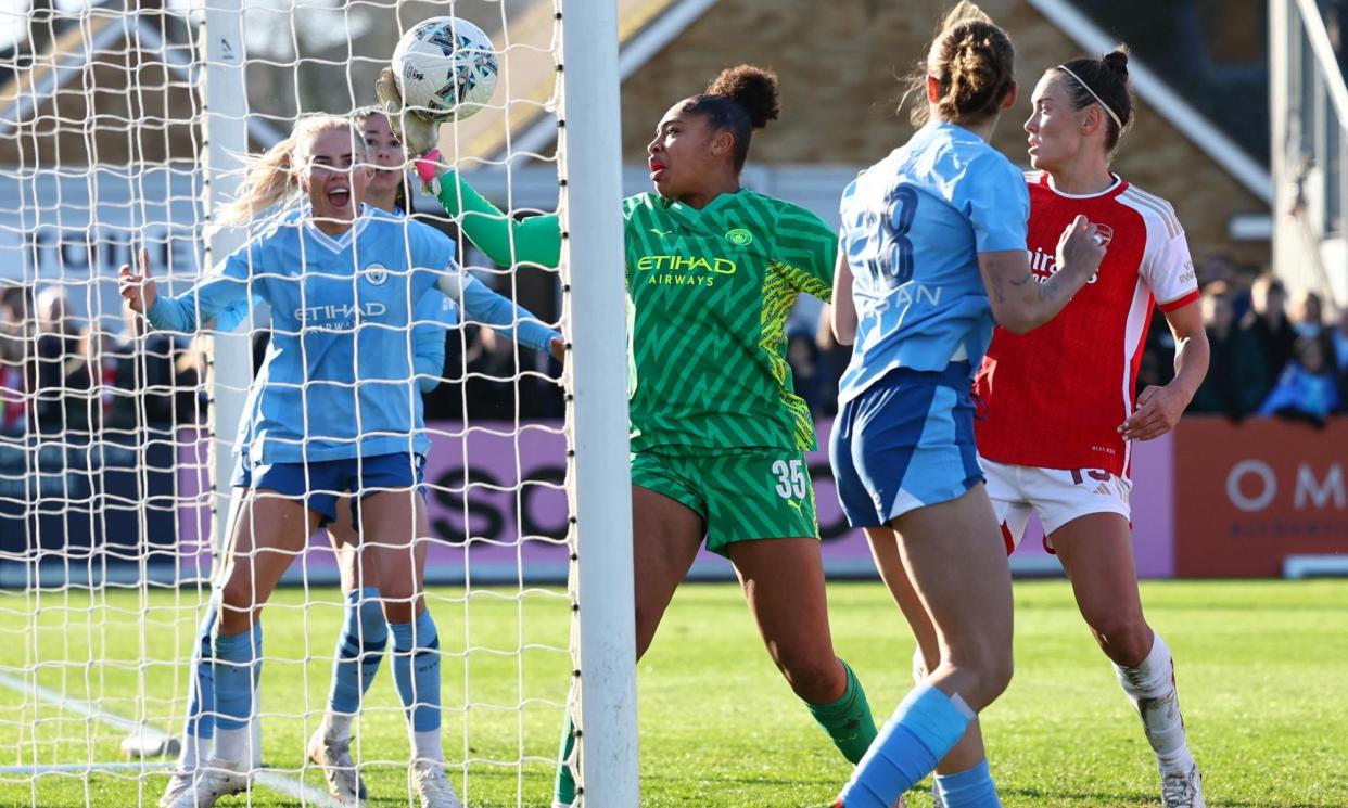
[{"label": "dark blue shorts on the shouting blonde player behind the net", "polygon": [[305,508],[322,514],[321,527],[337,520],[337,498],[349,492],[360,492],[365,498],[386,490],[417,487],[425,496],[425,466],[426,457],[419,454],[270,465],[249,465],[244,458],[235,465],[231,482],[236,487],[267,489],[303,500]]}]

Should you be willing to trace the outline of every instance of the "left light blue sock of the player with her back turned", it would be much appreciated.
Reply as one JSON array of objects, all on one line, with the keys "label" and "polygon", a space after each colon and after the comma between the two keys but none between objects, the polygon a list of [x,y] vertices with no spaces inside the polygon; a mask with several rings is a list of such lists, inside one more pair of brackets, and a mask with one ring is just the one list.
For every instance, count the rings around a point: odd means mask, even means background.
[{"label": "left light blue sock of the player with her back turned", "polygon": [[842,786],[836,805],[845,808],[890,808],[960,742],[973,720],[964,702],[956,703],[931,687],[919,684],[899,703],[871,750]]}]

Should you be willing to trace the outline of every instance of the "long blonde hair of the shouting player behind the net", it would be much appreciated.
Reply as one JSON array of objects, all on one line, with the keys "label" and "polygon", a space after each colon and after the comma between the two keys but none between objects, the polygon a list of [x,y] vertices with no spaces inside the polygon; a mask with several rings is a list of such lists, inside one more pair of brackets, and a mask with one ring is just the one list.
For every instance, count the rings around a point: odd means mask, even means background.
[{"label": "long blonde hair of the shouting player behind the net", "polygon": [[365,137],[356,131],[350,119],[336,114],[307,114],[295,121],[290,137],[248,159],[248,176],[239,198],[225,205],[214,217],[216,226],[241,225],[252,221],[263,210],[279,202],[299,198],[299,175],[313,152],[314,140],[324,132],[345,129],[350,133],[356,162],[367,158]]}]

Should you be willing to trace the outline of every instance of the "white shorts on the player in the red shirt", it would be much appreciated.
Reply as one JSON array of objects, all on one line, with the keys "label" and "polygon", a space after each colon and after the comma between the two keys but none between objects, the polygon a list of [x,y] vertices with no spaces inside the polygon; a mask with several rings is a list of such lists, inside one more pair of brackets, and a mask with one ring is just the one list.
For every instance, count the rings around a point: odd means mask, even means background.
[{"label": "white shorts on the player in the red shirt", "polygon": [[1010,555],[1030,521],[1030,513],[1039,514],[1043,525],[1045,548],[1053,549],[1049,536],[1074,518],[1089,513],[1117,513],[1131,518],[1128,492],[1132,482],[1100,469],[1035,469],[1008,466],[984,457],[979,458],[988,478],[988,497],[1002,523],[1002,536]]}]

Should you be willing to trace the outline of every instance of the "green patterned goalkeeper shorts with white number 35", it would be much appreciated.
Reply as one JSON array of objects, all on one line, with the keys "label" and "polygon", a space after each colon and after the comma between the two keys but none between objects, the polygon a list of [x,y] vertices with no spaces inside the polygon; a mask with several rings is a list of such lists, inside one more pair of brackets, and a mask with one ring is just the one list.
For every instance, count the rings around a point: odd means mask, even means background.
[{"label": "green patterned goalkeeper shorts with white number 35", "polygon": [[674,500],[702,517],[706,548],[727,555],[735,541],[820,536],[805,452],[787,448],[735,454],[632,452],[632,485]]}]

